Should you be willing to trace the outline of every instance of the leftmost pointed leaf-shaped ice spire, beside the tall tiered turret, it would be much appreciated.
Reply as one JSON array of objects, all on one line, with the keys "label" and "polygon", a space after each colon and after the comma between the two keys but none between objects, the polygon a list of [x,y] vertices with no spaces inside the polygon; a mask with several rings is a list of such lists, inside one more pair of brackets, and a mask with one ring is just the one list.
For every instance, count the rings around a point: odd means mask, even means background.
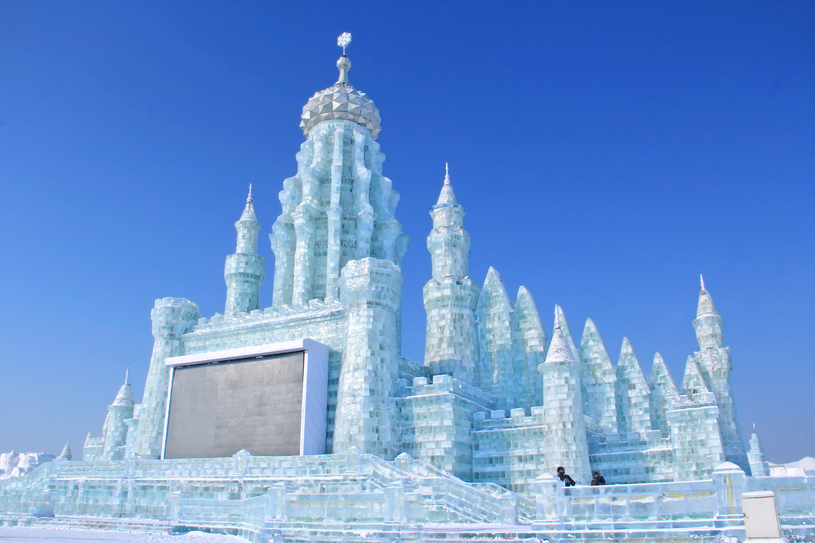
[{"label": "leftmost pointed leaf-shaped ice spire, beside the tall tiered turret", "polygon": [[475,310],[480,322],[481,384],[496,396],[496,409],[513,409],[518,396],[513,365],[513,313],[504,281],[490,266]]}]

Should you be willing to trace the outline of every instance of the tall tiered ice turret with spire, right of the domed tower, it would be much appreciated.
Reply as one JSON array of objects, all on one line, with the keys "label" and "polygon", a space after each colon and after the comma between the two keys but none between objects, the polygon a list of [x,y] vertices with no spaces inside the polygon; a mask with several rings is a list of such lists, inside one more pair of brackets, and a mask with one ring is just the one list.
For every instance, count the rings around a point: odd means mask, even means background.
[{"label": "tall tiered ice turret with spire, right of the domed tower", "polygon": [[423,289],[427,312],[425,365],[431,375],[447,374],[478,386],[478,285],[469,274],[469,232],[465,210],[456,202],[450,176],[444,177],[438,202],[430,208],[433,230],[427,250],[433,278]]}]

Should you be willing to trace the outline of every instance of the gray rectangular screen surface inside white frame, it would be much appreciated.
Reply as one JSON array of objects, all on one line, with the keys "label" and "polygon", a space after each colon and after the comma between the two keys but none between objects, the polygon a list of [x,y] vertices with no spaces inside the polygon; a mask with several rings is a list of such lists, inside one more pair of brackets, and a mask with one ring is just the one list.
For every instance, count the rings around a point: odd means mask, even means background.
[{"label": "gray rectangular screen surface inside white frame", "polygon": [[303,353],[175,368],[164,458],[300,453]]}]

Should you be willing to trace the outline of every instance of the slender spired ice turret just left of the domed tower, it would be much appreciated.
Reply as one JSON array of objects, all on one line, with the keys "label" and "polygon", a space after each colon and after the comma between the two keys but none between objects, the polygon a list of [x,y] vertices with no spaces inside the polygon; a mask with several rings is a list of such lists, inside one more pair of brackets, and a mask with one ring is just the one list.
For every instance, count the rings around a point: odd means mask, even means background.
[{"label": "slender spired ice turret just left of the domed tower", "polygon": [[235,254],[227,256],[223,278],[227,282],[224,314],[249,313],[260,308],[260,287],[266,277],[266,259],[258,255],[260,223],[255,217],[252,187],[240,220],[235,223],[238,243]]}]

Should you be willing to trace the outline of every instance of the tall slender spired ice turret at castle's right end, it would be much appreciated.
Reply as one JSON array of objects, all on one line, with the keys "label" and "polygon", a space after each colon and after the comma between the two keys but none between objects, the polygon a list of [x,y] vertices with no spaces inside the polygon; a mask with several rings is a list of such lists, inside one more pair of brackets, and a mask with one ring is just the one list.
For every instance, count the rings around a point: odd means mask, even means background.
[{"label": "tall slender spired ice turret at castle's right end", "polygon": [[750,475],[750,463],[747,462],[747,452],[736,422],[736,405],[733,388],[730,386],[730,370],[732,369],[730,351],[724,346],[722,320],[703,282],[702,290],[699,291],[696,319],[693,322],[696,340],[699,344],[699,350],[694,353],[694,359],[702,371],[707,388],[716,395],[725,458]]}]

